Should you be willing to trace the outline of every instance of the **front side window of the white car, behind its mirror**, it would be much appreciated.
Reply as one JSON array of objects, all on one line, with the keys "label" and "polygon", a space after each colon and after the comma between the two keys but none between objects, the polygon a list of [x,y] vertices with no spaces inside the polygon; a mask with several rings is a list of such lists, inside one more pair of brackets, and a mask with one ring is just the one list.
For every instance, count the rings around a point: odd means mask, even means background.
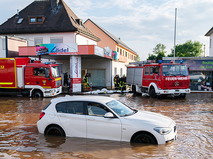
[{"label": "front side window of the white car, behind its mirror", "polygon": [[109,110],[100,103],[89,102],[87,104],[88,115],[91,116],[104,116]]}]

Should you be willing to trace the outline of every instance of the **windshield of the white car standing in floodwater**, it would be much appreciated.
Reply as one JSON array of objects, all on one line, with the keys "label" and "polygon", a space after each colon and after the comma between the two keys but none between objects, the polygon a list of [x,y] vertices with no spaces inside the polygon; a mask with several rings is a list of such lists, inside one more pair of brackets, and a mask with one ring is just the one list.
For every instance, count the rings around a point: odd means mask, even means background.
[{"label": "windshield of the white car standing in floodwater", "polygon": [[119,116],[129,116],[135,113],[135,111],[133,111],[132,109],[117,100],[112,100],[106,103],[106,105],[114,112],[116,112]]}]

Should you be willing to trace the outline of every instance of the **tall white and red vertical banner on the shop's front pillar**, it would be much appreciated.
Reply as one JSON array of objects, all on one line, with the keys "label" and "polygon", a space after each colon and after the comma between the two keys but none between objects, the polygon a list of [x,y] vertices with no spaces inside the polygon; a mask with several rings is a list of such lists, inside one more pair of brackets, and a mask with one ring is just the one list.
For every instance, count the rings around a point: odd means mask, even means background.
[{"label": "tall white and red vertical banner on the shop's front pillar", "polygon": [[70,56],[70,91],[81,92],[81,56]]}]

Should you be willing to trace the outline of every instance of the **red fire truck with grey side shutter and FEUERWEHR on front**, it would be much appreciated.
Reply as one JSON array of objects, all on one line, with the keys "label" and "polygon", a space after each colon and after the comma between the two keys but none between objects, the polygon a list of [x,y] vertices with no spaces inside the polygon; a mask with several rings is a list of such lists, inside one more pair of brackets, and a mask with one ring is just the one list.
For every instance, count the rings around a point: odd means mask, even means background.
[{"label": "red fire truck with grey side shutter and FEUERWEHR on front", "polygon": [[127,67],[126,84],[133,93],[148,93],[151,98],[160,95],[174,95],[185,98],[189,89],[189,72],[183,62],[150,63]]}]

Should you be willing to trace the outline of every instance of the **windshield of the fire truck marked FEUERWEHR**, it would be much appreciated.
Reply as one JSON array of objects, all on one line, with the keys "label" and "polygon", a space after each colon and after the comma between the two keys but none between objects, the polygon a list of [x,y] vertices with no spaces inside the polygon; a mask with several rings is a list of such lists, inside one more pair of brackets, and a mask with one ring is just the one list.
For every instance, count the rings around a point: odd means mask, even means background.
[{"label": "windshield of the fire truck marked FEUERWEHR", "polygon": [[163,76],[188,76],[186,65],[163,65]]}]

